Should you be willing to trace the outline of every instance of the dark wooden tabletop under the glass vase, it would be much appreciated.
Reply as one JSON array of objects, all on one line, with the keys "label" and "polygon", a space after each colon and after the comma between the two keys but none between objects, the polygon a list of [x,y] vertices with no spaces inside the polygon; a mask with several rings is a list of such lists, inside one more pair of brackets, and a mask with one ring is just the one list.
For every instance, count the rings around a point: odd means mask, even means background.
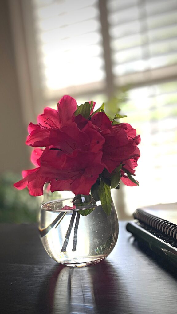
[{"label": "dark wooden tabletop under the glass vase", "polygon": [[177,271],[120,223],[99,264],[70,268],[45,252],[37,225],[0,224],[0,313],[176,314]]}]

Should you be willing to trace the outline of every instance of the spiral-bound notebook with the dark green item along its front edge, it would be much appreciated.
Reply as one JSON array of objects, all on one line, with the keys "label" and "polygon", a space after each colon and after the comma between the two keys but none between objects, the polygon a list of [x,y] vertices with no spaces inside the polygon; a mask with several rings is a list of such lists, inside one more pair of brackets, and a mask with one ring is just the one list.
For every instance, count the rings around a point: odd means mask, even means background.
[{"label": "spiral-bound notebook with the dark green item along its front edge", "polygon": [[177,265],[177,203],[157,204],[135,210],[126,229],[152,251]]}]

